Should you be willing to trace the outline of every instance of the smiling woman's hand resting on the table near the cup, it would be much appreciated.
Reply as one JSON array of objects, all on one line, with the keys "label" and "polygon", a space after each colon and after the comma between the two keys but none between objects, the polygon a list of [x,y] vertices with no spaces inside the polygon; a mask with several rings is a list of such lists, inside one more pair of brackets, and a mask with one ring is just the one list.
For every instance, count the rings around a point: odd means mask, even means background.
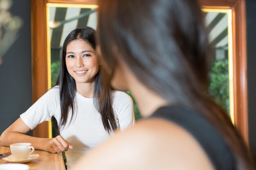
[{"label": "smiling woman's hand resting on the table near the cup", "polygon": [[49,142],[47,142],[45,146],[45,150],[51,153],[61,153],[68,149],[73,149],[73,146],[61,135],[58,135],[53,139],[49,139]]}]

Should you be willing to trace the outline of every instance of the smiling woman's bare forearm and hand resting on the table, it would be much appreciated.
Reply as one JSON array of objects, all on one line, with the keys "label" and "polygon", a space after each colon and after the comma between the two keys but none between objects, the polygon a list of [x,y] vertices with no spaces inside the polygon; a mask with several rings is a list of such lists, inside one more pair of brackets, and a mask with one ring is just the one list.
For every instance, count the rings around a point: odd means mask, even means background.
[{"label": "smiling woman's bare forearm and hand resting on the table", "polygon": [[25,135],[29,130],[29,126],[21,118],[18,118],[2,133],[0,143],[3,146],[9,146],[13,143],[29,142],[35,149],[45,150],[51,153],[60,153],[69,148],[72,149],[72,145],[61,136],[48,139]]}]

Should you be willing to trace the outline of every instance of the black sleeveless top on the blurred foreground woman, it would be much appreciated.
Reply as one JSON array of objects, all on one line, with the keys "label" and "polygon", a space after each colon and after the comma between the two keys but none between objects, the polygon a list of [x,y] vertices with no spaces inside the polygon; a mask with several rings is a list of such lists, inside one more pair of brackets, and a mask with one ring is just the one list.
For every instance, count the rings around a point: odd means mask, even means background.
[{"label": "black sleeveless top on the blurred foreground woman", "polygon": [[217,129],[198,113],[183,107],[161,107],[151,118],[163,118],[189,131],[207,153],[216,170],[236,170],[235,160]]}]

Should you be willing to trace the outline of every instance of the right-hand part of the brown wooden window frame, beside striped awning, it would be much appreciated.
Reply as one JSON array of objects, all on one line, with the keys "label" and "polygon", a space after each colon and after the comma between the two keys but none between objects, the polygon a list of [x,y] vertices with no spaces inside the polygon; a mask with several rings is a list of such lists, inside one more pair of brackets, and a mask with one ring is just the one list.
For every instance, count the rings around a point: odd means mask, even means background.
[{"label": "right-hand part of the brown wooden window frame, beside striped awning", "polygon": [[199,0],[206,9],[231,9],[234,69],[234,121],[248,146],[245,0]]}]

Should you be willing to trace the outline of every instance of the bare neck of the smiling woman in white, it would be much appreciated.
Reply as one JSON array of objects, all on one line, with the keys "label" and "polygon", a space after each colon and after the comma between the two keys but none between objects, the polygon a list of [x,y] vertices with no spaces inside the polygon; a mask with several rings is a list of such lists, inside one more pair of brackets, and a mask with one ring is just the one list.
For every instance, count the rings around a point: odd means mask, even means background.
[{"label": "bare neck of the smiling woman in white", "polygon": [[94,83],[77,83],[76,92],[86,98],[93,98],[94,96]]}]

